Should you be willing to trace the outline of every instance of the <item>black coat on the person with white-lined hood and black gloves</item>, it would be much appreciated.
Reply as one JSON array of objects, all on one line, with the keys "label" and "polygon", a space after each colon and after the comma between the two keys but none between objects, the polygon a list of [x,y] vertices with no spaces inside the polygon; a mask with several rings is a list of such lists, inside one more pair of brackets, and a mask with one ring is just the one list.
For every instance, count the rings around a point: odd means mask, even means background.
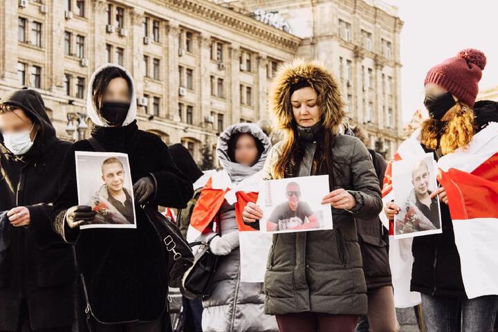
[{"label": "black coat on the person with white-lined hood and black gloves", "polygon": [[[185,208],[192,198],[192,183],[178,170],[167,146],[158,136],[138,130],[136,121],[124,127],[94,126],[91,135],[107,151],[128,154],[133,183],[144,176],[154,178],[156,193],[149,205]],[[66,210],[78,205],[75,151],[95,150],[87,140],[75,142],[69,149],[54,219],[57,232],[66,241],[75,241],[80,332],[87,331],[88,305],[89,313],[101,322],[156,320],[166,313],[167,253],[138,203],[136,229],[70,230],[64,225]]]}]

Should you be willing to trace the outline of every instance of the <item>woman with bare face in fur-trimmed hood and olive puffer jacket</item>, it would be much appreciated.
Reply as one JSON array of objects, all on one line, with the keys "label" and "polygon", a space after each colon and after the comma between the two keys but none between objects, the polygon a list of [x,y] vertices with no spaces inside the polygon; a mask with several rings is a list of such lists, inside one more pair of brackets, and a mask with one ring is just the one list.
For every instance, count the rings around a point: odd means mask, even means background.
[{"label": "woman with bare face in fur-trimmed hood and olive puffer jacket", "polygon": [[[317,62],[296,59],[280,68],[270,112],[286,138],[270,151],[267,179],[329,175],[333,230],[275,234],[265,276],[266,313],[280,331],[354,331],[367,313],[365,277],[355,218],[380,212],[380,188],[365,145],[340,133],[339,86]],[[244,221],[262,218],[250,204]],[[303,224],[303,226],[306,224]]]}]

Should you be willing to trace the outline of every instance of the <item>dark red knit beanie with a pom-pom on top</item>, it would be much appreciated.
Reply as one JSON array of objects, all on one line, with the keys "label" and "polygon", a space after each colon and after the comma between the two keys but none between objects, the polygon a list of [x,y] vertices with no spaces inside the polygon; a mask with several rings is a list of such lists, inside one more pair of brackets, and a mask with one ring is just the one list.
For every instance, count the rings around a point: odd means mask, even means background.
[{"label": "dark red knit beanie with a pom-pom on top", "polygon": [[479,80],[486,66],[486,55],[480,50],[467,48],[456,57],[450,57],[430,68],[424,85],[434,83],[448,90],[470,107],[474,106],[479,92]]}]

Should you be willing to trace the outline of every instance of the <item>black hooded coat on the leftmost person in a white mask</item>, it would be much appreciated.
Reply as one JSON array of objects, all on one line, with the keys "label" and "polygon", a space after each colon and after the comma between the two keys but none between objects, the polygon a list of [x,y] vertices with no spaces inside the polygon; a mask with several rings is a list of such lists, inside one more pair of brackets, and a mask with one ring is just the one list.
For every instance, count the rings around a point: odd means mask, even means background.
[{"label": "black hooded coat on the leftmost person in a white mask", "polygon": [[[55,137],[39,93],[21,90],[3,97],[24,110],[38,126],[33,147],[15,156],[0,144],[0,211],[26,206],[28,227],[0,234],[0,331],[17,331],[19,310],[28,304],[33,329],[71,326],[75,320],[75,266],[71,245],[53,232],[50,212],[57,178],[70,142]],[[1,138],[3,141],[3,138]]]}]

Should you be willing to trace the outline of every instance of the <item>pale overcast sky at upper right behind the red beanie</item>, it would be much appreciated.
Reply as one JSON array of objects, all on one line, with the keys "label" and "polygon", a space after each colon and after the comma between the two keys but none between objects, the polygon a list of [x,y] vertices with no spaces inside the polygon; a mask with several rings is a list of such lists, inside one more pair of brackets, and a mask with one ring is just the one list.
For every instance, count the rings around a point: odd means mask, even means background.
[{"label": "pale overcast sky at upper right behind the red beanie", "polygon": [[497,0],[384,0],[398,6],[401,32],[403,122],[423,108],[423,80],[430,67],[463,48],[488,57],[479,89],[498,86]]}]

